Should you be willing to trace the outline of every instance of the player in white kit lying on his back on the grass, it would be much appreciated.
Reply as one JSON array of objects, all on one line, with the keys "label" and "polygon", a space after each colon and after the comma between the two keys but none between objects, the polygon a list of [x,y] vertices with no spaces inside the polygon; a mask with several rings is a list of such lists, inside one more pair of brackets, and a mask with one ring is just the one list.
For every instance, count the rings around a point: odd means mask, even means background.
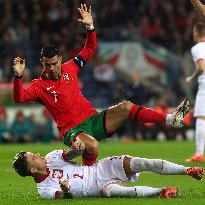
[{"label": "player in white kit lying on his back on the grass", "polygon": [[131,156],[107,157],[93,166],[72,161],[69,151],[55,150],[45,158],[39,153],[21,151],[13,159],[20,176],[32,176],[43,198],[74,197],[176,197],[176,187],[127,187],[124,182],[136,181],[140,172],[151,171],[164,175],[188,175],[197,180],[203,176],[201,167],[184,167],[161,159]]}]

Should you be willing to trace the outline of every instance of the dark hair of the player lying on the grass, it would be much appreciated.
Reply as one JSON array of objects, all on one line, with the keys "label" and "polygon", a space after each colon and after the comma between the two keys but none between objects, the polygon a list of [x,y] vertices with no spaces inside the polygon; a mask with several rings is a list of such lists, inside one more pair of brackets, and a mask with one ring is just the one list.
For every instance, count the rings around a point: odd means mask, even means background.
[{"label": "dark hair of the player lying on the grass", "polygon": [[26,161],[26,151],[17,153],[13,159],[12,167],[22,177],[30,176],[28,171],[28,163]]}]

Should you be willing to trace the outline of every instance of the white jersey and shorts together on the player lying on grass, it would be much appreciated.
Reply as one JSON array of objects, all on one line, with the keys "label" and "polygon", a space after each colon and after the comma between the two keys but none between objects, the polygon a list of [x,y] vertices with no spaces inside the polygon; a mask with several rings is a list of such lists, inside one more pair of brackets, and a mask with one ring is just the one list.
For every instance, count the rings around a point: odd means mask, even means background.
[{"label": "white jersey and shorts together on the player lying on grass", "polygon": [[[67,162],[63,156],[63,150],[46,155],[48,174],[35,180],[42,198],[55,198],[55,193],[61,191],[59,180],[68,180],[70,191],[75,197],[99,196],[100,190],[107,184],[130,181],[123,168],[125,156],[107,157],[93,166]],[[135,174],[131,181],[136,181],[138,176],[139,173]]]}]

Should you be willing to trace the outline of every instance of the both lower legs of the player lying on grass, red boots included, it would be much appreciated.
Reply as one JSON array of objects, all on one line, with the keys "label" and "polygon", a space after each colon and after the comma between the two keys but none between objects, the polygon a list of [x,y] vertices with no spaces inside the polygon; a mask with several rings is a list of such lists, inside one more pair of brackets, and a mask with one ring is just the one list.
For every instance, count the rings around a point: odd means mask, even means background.
[{"label": "both lower legs of the player lying on grass, red boots included", "polygon": [[[136,173],[142,171],[152,171],[158,174],[167,175],[188,175],[197,180],[203,177],[203,168],[185,167],[161,159],[146,159],[139,157],[125,157],[123,159],[123,168],[127,179],[131,179]],[[126,187],[123,184],[112,183],[105,186],[101,193],[106,197],[152,197],[159,196],[163,198],[176,197],[178,189],[176,187],[153,188],[147,186]]]}]

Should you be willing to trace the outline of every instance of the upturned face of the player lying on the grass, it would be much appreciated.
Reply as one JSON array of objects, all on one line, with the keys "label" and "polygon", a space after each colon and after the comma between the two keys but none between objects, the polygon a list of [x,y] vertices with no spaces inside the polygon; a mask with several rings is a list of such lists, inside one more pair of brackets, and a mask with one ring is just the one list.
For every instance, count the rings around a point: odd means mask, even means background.
[{"label": "upturned face of the player lying on the grass", "polygon": [[43,171],[46,168],[46,160],[39,153],[34,154],[32,152],[27,152],[26,161],[28,164],[28,170],[34,168],[39,171]]}]

